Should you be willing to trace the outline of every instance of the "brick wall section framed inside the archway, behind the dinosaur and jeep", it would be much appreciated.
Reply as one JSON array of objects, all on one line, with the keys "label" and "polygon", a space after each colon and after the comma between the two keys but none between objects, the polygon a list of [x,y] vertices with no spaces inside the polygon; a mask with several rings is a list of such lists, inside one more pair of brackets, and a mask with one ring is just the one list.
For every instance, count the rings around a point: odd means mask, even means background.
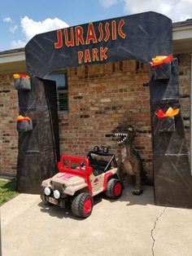
[{"label": "brick wall section framed inside the archway, behind the dinosaur and jeep", "polygon": [[137,130],[134,145],[151,174],[151,119],[148,66],[135,61],[92,65],[68,70],[68,114],[59,114],[61,152],[85,155],[94,145],[108,145],[107,137],[121,121]]}]

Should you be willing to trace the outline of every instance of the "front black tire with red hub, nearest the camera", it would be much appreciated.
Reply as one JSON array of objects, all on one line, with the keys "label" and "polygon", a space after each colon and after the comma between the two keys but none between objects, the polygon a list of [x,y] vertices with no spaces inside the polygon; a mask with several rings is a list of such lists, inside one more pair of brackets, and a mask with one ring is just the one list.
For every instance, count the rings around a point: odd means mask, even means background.
[{"label": "front black tire with red hub, nearest the camera", "polygon": [[87,218],[91,214],[94,201],[89,193],[81,193],[72,201],[72,213],[77,217]]}]

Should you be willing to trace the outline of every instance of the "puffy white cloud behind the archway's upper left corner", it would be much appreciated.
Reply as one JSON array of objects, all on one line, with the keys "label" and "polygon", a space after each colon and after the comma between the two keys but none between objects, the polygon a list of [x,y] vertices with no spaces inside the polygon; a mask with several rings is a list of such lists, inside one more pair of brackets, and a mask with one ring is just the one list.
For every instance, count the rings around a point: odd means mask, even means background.
[{"label": "puffy white cloud behind the archway's upper left corner", "polygon": [[[21,33],[22,39],[12,41],[11,42],[12,48],[24,47],[26,43],[31,38],[33,38],[37,33],[45,33],[55,29],[67,28],[68,24],[63,20],[59,20],[58,18],[35,21],[32,19],[29,19],[28,16],[24,16],[24,18],[20,19],[20,27],[22,32]],[[14,33],[16,29],[18,29],[18,27],[17,28],[13,27],[12,31],[11,29],[10,31]]]}]

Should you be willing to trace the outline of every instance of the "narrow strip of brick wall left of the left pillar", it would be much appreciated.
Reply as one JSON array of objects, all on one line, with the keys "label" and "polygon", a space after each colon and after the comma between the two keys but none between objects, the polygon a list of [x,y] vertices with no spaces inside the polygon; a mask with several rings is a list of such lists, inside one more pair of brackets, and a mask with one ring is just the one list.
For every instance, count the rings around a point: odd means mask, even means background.
[{"label": "narrow strip of brick wall left of the left pillar", "polygon": [[15,173],[18,137],[15,117],[18,115],[17,92],[12,74],[0,74],[0,173]]}]

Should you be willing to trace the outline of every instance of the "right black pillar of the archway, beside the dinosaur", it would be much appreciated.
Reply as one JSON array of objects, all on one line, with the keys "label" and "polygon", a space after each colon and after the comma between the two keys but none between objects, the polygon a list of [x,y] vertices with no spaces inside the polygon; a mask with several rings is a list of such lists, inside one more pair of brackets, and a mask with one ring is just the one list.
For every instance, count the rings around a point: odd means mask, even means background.
[{"label": "right black pillar of the archway, beside the dinosaur", "polygon": [[[192,208],[192,175],[179,102],[177,60],[151,68],[151,126],[155,204]],[[155,115],[179,108],[174,117]]]}]

